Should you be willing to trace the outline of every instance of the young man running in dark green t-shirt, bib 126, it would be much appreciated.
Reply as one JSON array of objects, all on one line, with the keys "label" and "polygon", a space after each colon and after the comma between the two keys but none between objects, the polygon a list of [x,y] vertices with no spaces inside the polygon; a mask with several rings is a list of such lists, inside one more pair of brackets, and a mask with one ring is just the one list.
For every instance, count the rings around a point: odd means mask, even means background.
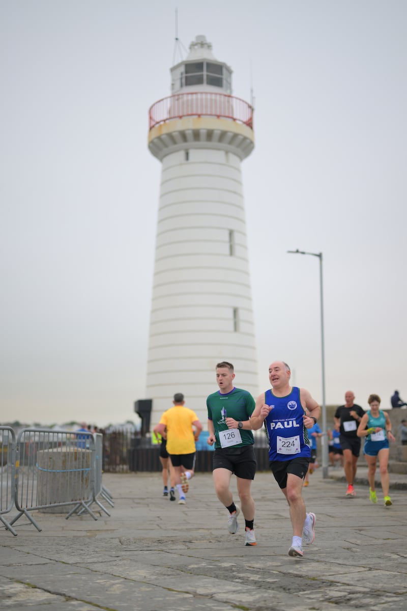
[{"label": "young man running in dark green t-shirt, bib 126", "polygon": [[250,392],[233,386],[234,367],[222,361],[216,366],[216,381],[219,387],[206,400],[207,430],[209,445],[215,444],[213,477],[215,491],[220,502],[229,511],[228,530],[234,535],[239,530],[237,516],[240,507],[233,502],[230,490],[232,474],[236,475],[237,492],[245,518],[246,545],[256,545],[254,536],[254,500],[251,482],[256,474],[254,439],[250,416],[255,402]]}]

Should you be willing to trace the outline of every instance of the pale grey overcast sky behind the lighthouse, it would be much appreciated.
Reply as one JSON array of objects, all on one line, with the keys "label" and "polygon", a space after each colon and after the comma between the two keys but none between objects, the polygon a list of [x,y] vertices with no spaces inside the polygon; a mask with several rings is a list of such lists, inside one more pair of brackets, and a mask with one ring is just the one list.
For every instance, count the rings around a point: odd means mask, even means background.
[{"label": "pale grey overcast sky behind the lighthouse", "polygon": [[176,8],[185,48],[206,35],[233,94],[253,83],[259,392],[284,359],[322,401],[319,260],[299,248],[323,252],[326,403],[406,400],[407,2],[2,0],[0,422],[137,419],[160,182],[148,108],[170,95]]}]

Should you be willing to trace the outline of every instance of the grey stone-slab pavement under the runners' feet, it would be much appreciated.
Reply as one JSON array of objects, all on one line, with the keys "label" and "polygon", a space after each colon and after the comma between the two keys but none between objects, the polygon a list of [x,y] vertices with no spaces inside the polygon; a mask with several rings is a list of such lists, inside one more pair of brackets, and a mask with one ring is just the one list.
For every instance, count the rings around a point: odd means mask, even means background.
[{"label": "grey stone-slab pavement under the runners' feet", "polygon": [[[270,473],[253,483],[256,547],[244,521],[229,535],[211,474],[196,474],[187,504],[162,497],[160,474],[105,474],[111,516],[35,512],[18,536],[0,530],[0,607],[29,611],[345,611],[407,606],[407,475],[391,474],[394,505],[372,505],[366,485],[345,497],[342,469],[304,488],[317,515],[304,558],[287,555],[288,507]],[[359,467],[358,481],[366,482]],[[337,478],[337,479],[335,479]],[[232,488],[236,483],[232,478]],[[237,496],[236,496],[237,500]],[[106,505],[107,507],[107,505]],[[97,510],[96,505],[93,508]],[[13,513],[5,517],[11,519]]]}]

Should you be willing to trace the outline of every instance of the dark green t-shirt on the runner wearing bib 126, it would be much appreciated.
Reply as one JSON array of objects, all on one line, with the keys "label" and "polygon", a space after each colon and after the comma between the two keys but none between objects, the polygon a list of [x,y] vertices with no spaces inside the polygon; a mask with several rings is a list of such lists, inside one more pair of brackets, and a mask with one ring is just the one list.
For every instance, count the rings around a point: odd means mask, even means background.
[{"label": "dark green t-shirt on the runner wearing bib 126", "polygon": [[[207,417],[214,423],[215,448],[222,447],[219,441],[219,431],[228,431],[226,418],[244,421],[253,414],[256,403],[248,390],[234,388],[231,392],[222,395],[219,390],[213,392],[206,400]],[[254,444],[253,433],[240,429],[242,443],[234,447],[241,448],[244,445]]]}]

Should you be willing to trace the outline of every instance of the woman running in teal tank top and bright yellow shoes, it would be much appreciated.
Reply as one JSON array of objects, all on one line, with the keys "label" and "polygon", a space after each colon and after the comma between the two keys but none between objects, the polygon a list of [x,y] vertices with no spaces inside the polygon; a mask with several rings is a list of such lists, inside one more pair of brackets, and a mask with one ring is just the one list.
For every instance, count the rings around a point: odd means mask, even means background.
[{"label": "woman running in teal tank top and bright yellow shoes", "polygon": [[377,503],[375,474],[377,459],[379,459],[384,505],[388,507],[392,504],[392,500],[389,497],[389,472],[387,470],[387,464],[389,463],[389,441],[395,441],[395,437],[392,434],[389,414],[379,409],[380,401],[379,395],[370,395],[367,400],[367,403],[370,405],[370,412],[366,412],[362,417],[357,434],[358,437],[365,437],[363,453],[369,467],[367,474],[370,486],[369,499],[372,503]]}]

